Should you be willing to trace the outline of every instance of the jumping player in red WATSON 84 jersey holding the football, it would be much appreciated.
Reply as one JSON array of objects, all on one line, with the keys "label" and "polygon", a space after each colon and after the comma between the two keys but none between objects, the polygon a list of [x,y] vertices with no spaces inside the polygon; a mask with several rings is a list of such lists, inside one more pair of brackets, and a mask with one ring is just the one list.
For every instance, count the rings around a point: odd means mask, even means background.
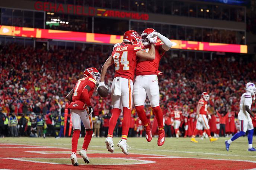
[{"label": "jumping player in red WATSON 84 jersey holding the football", "polygon": [[[106,147],[110,152],[113,148],[113,130],[116,121],[121,113],[124,113],[122,120],[122,139],[118,143],[118,147],[122,152],[128,155],[127,151],[127,135],[131,121],[131,110],[133,105],[132,91],[134,72],[137,65],[137,59],[153,60],[155,59],[155,46],[151,44],[151,50],[148,53],[143,52],[141,46],[138,45],[140,35],[134,30],[128,30],[124,33],[124,46],[115,46],[112,55],[106,60],[101,70],[101,78],[99,86],[105,86],[104,78],[109,66],[115,64],[115,78],[111,86],[111,99],[113,113],[109,120],[108,137],[106,138]],[[107,87],[106,87],[107,88]]]}]

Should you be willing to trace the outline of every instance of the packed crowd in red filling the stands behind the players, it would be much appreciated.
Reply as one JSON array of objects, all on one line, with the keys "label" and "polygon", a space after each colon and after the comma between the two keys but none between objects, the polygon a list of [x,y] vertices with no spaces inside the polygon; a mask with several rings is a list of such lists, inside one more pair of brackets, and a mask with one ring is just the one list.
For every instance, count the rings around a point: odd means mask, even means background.
[{"label": "packed crowd in red filling the stands behind the players", "polygon": [[[65,96],[83,76],[83,70],[100,69],[109,53],[92,49],[33,49],[32,46],[9,44],[0,47],[0,136],[63,136]],[[232,55],[207,59],[173,57],[166,53],[160,63],[160,104],[164,113],[167,136],[175,136],[171,112],[174,105],[182,111],[182,136],[191,136],[195,128],[195,108],[203,91],[210,94],[211,132],[215,135],[234,134],[244,84],[255,80],[256,64],[250,58]],[[246,65],[246,67],[245,67]],[[112,83],[114,67],[108,70],[106,85]],[[110,89],[110,88],[109,88]],[[105,136],[111,117],[111,99],[92,97],[95,136]],[[252,110],[256,111],[253,101]],[[145,108],[157,134],[157,123],[149,101]],[[188,120],[188,122],[185,121]],[[135,109],[132,111],[130,136],[142,136],[143,128]],[[122,114],[115,134],[121,135]],[[256,127],[256,122],[253,122]],[[185,125],[188,124],[188,131]],[[67,120],[67,129],[69,118]],[[83,126],[81,126],[83,127]],[[57,133],[56,133],[57,132]],[[220,133],[221,132],[221,133]],[[66,131],[66,134],[68,130]],[[82,130],[84,135],[84,129]],[[199,133],[202,135],[203,131]]]}]

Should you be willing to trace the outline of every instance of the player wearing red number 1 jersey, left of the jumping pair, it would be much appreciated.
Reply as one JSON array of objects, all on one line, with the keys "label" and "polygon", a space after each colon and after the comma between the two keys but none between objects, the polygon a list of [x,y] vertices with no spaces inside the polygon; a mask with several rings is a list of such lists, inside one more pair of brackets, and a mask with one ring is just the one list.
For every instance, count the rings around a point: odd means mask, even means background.
[{"label": "player wearing red number 1 jersey, left of the jumping pair", "polygon": [[87,164],[89,163],[86,151],[93,134],[93,108],[90,98],[92,97],[95,85],[99,83],[99,80],[100,73],[96,68],[90,67],[85,69],[84,77],[77,81],[75,88],[71,90],[66,97],[68,101],[71,102],[68,108],[71,109],[71,120],[74,130],[72,136],[72,154],[70,157],[73,166],[79,166],[77,163],[76,151],[81,131],[81,121],[86,129],[86,135],[84,137],[83,147],[79,151],[79,155],[83,157],[84,162]]}]

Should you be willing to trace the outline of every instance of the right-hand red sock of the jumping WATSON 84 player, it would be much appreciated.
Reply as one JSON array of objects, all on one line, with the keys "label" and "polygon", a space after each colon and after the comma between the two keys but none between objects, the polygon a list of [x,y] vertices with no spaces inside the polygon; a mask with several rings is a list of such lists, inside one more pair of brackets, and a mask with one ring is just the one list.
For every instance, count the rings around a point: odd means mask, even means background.
[{"label": "right-hand red sock of the jumping WATSON 84 player", "polygon": [[124,111],[124,117],[122,120],[122,139],[127,140],[127,135],[130,128],[130,122],[131,122],[131,109],[128,109],[127,107],[123,107]]}]

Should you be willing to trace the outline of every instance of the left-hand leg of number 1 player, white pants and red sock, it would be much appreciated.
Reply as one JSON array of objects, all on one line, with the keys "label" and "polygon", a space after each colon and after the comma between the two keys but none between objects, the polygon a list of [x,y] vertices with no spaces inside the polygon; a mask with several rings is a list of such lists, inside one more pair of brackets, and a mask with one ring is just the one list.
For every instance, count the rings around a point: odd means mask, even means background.
[{"label": "left-hand leg of number 1 player, white pants and red sock", "polygon": [[71,119],[72,119],[72,126],[74,131],[73,131],[72,143],[71,143],[72,154],[70,156],[70,160],[73,166],[79,166],[79,164],[77,163],[77,156],[76,156],[77,143],[78,143],[78,139],[81,131],[81,118],[80,118],[80,115],[78,114],[79,112],[80,112],[79,110],[71,109]]}]

